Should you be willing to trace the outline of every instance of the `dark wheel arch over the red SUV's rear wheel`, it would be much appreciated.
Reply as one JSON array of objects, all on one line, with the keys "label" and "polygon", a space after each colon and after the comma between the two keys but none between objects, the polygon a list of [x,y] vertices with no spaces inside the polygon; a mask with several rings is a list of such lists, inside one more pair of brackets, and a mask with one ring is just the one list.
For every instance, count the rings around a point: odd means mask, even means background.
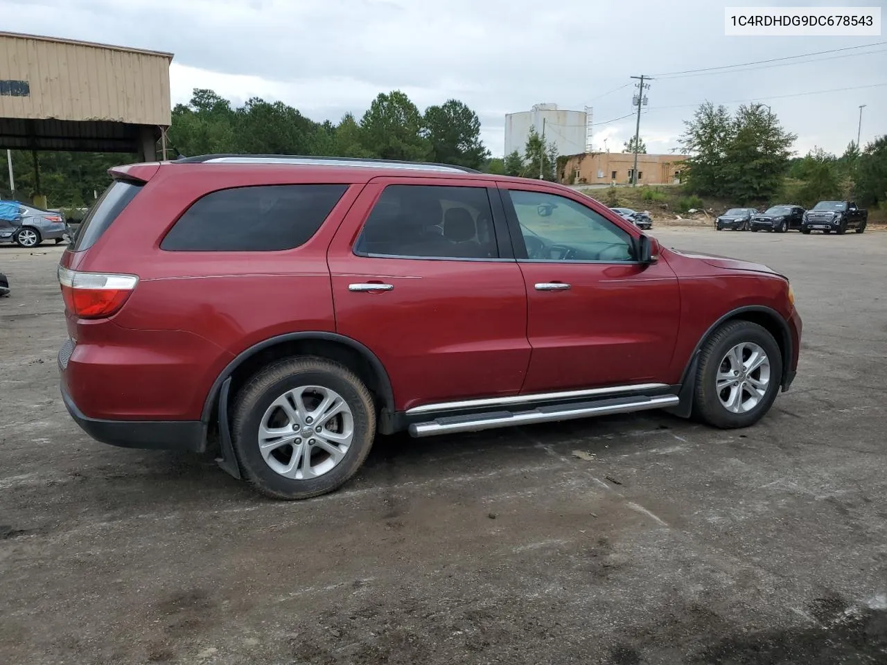
[{"label": "dark wheel arch over the red SUV's rear wheel", "polygon": [[[222,426],[222,414],[218,413],[220,397],[228,402],[238,388],[263,365],[289,356],[322,356],[341,362],[357,373],[378,400],[381,411],[380,431],[387,434],[385,425],[389,414],[395,410],[394,389],[384,365],[373,351],[357,340],[336,332],[287,332],[260,341],[240,352],[216,377],[203,404],[200,421],[208,426],[216,415]],[[229,380],[230,379],[230,380]]]}]

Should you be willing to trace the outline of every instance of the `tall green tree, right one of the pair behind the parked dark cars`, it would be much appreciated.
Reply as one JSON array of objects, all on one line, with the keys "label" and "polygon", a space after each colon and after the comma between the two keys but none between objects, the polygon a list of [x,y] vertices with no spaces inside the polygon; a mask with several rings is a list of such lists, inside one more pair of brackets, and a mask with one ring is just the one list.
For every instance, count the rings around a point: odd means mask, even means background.
[{"label": "tall green tree, right one of the pair behind the parked dark cars", "polygon": [[772,199],[781,189],[796,138],[763,104],[740,106],[726,144],[726,188],[720,193],[742,203]]}]

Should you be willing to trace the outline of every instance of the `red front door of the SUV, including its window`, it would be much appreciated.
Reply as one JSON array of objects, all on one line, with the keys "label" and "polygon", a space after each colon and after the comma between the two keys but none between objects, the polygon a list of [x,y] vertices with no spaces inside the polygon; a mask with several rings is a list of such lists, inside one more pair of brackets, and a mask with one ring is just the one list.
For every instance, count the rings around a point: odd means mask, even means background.
[{"label": "red front door of the SUV, including its window", "polygon": [[527,289],[532,355],[522,392],[661,382],[680,317],[671,268],[637,262],[640,231],[581,194],[499,186]]}]

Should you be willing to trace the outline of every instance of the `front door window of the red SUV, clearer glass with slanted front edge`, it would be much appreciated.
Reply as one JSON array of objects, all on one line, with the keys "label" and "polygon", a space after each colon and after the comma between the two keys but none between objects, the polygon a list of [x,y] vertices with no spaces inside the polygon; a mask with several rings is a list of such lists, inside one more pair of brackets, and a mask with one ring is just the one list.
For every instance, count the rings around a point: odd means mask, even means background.
[{"label": "front door window of the red SUV, clearer glass with slanted front edge", "polygon": [[632,262],[632,237],[578,201],[548,192],[508,192],[530,261]]}]

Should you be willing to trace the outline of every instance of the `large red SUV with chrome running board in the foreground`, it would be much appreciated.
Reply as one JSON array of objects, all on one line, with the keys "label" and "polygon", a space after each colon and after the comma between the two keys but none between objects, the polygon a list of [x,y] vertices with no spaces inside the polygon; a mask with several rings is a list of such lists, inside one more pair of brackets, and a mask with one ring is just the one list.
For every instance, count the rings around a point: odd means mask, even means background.
[{"label": "large red SUV with chrome running board in the foreground", "polygon": [[375,434],[666,409],[750,426],[795,377],[789,280],[595,200],[437,164],[208,155],[114,168],[59,262],[72,417],[331,491]]}]

